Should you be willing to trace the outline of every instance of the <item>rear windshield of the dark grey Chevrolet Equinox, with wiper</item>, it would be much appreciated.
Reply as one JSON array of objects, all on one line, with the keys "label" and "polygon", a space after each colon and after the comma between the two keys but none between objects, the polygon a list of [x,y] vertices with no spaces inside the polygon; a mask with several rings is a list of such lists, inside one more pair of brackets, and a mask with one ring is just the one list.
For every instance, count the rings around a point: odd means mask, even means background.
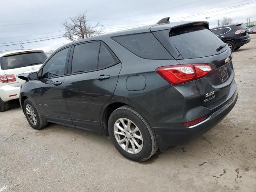
[{"label": "rear windshield of the dark grey Chevrolet Equinox, with wiper", "polygon": [[217,51],[217,48],[225,44],[203,26],[172,29],[168,40],[184,59],[212,56],[227,49]]}]

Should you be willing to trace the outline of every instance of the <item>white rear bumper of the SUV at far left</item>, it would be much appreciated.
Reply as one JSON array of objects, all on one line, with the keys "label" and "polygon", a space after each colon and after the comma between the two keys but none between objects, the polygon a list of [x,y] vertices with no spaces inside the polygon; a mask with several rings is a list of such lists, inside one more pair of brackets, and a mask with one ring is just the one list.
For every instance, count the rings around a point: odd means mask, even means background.
[{"label": "white rear bumper of the SUV at far left", "polygon": [[13,99],[18,99],[20,94],[20,87],[12,87],[8,84],[0,86],[0,98],[3,102]]}]

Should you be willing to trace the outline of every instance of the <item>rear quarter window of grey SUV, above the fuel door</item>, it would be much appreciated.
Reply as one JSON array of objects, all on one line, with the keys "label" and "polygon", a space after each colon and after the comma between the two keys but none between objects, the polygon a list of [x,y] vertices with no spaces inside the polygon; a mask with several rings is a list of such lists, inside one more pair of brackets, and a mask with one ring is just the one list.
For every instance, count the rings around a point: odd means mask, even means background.
[{"label": "rear quarter window of grey SUV, above the fuel door", "polygon": [[133,54],[145,59],[172,59],[151,32],[112,38]]}]

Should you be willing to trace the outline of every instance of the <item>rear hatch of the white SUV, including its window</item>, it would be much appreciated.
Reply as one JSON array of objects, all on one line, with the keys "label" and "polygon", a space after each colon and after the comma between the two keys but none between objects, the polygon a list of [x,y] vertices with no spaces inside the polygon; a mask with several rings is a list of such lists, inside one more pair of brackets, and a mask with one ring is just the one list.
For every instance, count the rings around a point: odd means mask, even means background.
[{"label": "rear hatch of the white SUV, including its window", "polygon": [[19,87],[24,83],[24,80],[17,78],[17,75],[38,71],[46,58],[47,56],[43,51],[18,52],[2,56],[0,64],[1,69],[4,70],[4,74],[9,79],[8,84],[12,87]]}]

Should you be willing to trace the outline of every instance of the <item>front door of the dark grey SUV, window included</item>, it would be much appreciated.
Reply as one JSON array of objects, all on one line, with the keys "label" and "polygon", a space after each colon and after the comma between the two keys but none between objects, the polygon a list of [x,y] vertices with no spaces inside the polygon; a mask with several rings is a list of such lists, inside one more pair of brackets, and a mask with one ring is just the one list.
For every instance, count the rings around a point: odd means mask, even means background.
[{"label": "front door of the dark grey SUV, window included", "polygon": [[63,97],[63,82],[68,65],[70,47],[64,48],[51,56],[39,72],[39,80],[34,81],[32,89],[34,99],[46,120],[72,124],[68,106]]}]

